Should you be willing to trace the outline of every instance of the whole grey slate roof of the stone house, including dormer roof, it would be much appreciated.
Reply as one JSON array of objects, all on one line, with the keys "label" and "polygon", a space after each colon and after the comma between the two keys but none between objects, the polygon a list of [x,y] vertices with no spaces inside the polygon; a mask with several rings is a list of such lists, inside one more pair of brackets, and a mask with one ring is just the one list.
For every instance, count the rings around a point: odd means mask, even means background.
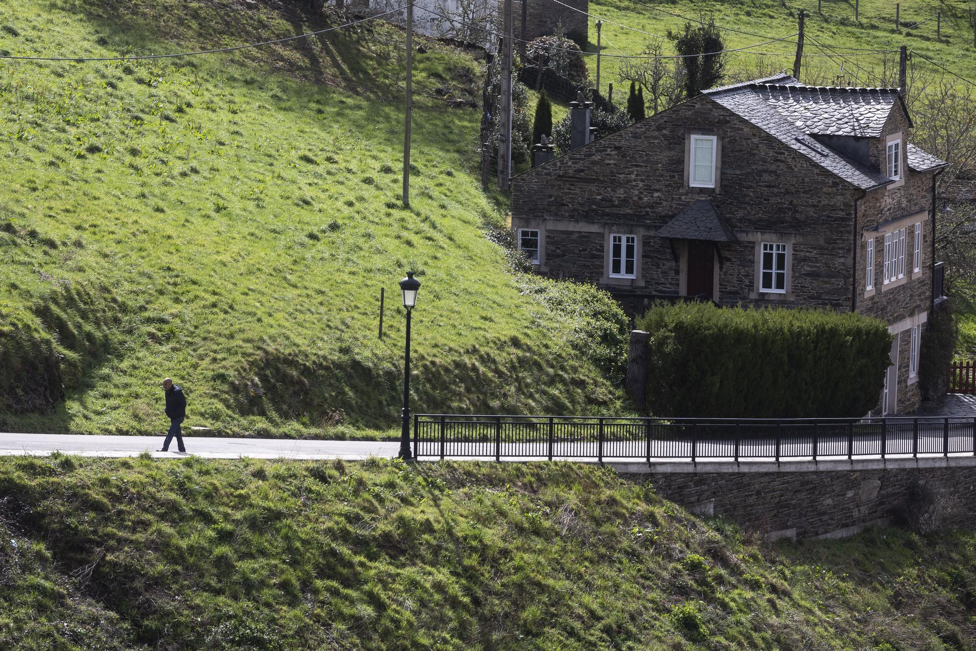
[{"label": "whole grey slate roof of the stone house, including dormer roof", "polygon": [[[902,102],[898,89],[804,86],[789,74],[780,74],[712,88],[705,95],[857,188],[871,190],[891,183],[880,170],[811,136],[879,136],[892,107]],[[907,152],[915,171],[946,164],[914,145]]]}]

